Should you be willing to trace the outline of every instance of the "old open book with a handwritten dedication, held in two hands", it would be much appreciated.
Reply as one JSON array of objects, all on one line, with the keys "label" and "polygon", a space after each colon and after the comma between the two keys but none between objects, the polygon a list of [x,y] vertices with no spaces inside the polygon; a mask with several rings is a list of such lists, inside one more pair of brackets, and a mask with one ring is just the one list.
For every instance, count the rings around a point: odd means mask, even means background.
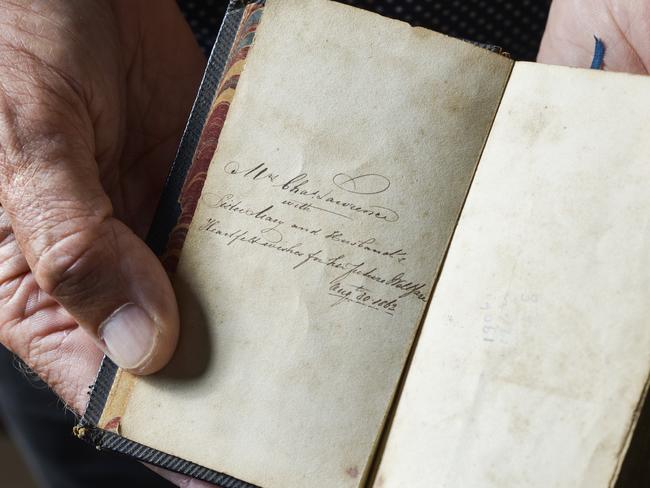
[{"label": "old open book with a handwritten dedication, held in two hands", "polygon": [[181,342],[104,361],[100,448],[224,487],[647,486],[648,78],[235,2],[150,244]]}]

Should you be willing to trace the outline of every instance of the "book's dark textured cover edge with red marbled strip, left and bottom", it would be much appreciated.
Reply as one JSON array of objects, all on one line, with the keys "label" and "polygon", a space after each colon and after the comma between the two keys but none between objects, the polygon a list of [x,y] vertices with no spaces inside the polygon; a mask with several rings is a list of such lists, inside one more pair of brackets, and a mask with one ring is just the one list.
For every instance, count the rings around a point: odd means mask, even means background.
[{"label": "book's dark textured cover edge with red marbled strip, left and bottom", "polygon": [[[185,240],[207,167],[216,150],[239,74],[252,47],[263,13],[264,0],[231,0],[210,54],[198,95],[161,195],[147,236],[147,244],[173,273]],[[74,427],[78,438],[99,450],[127,455],[139,461],[216,484],[222,488],[257,488],[231,476],[143,446],[102,429],[104,411],[117,366],[104,357],[83,417]]]}]

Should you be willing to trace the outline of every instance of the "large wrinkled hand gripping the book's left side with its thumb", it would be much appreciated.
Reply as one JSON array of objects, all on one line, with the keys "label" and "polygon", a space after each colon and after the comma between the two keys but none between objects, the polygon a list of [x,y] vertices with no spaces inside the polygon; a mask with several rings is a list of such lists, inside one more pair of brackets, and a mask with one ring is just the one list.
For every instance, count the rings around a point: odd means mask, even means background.
[{"label": "large wrinkled hand gripping the book's left side with its thumb", "polygon": [[0,342],[78,413],[176,347],[142,237],[204,62],[173,0],[0,0]]}]

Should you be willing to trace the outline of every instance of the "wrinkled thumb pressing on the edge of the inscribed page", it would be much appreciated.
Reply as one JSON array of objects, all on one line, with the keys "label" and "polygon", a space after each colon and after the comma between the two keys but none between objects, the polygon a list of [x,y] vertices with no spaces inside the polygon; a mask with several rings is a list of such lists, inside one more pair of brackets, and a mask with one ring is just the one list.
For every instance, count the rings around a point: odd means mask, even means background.
[{"label": "wrinkled thumb pressing on the edge of the inscribed page", "polygon": [[0,100],[0,202],[17,242],[38,286],[97,346],[122,368],[157,371],[178,338],[169,280],[112,216],[83,100],[56,80],[30,83],[5,85]]}]

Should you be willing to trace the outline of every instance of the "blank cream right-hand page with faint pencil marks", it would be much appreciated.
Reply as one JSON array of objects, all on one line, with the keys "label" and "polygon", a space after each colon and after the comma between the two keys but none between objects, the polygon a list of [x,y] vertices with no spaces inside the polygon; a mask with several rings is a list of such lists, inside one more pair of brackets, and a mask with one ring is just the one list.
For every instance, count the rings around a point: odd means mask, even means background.
[{"label": "blank cream right-hand page with faint pencil marks", "polygon": [[375,487],[604,488],[650,371],[650,79],[515,65]]}]

